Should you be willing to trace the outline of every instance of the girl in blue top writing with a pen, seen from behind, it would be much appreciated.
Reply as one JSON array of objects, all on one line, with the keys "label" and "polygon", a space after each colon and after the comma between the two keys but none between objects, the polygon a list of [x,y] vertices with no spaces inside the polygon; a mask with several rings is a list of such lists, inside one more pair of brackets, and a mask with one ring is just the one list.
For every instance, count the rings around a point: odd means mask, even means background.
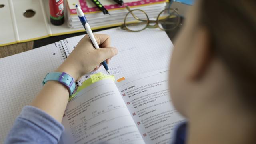
[{"label": "girl in blue top writing with a pen, seen from behind", "polygon": [[[256,142],[255,16],[255,0],[198,0],[188,13],[170,64],[172,102],[188,119],[174,144]],[[77,80],[117,54],[108,36],[95,36],[102,49],[85,36],[56,72]],[[6,143],[57,143],[68,96],[65,86],[47,82],[23,108]]]}]

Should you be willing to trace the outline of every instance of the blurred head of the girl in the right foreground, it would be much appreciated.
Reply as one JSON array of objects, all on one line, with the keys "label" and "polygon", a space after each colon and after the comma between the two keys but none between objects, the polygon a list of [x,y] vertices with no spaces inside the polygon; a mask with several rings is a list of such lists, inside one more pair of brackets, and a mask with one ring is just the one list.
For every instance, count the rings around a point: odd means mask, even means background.
[{"label": "blurred head of the girl in the right foreground", "polygon": [[174,106],[188,118],[214,105],[255,111],[256,1],[197,0],[186,18],[170,64]]}]

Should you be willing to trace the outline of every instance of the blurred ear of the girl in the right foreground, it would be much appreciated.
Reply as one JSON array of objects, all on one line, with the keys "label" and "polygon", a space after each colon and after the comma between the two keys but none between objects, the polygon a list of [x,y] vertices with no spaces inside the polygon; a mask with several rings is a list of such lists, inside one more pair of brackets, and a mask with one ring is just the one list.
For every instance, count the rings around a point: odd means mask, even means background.
[{"label": "blurred ear of the girl in the right foreground", "polygon": [[191,48],[189,77],[192,80],[198,80],[204,76],[212,57],[210,34],[206,28],[199,28],[195,32]]}]

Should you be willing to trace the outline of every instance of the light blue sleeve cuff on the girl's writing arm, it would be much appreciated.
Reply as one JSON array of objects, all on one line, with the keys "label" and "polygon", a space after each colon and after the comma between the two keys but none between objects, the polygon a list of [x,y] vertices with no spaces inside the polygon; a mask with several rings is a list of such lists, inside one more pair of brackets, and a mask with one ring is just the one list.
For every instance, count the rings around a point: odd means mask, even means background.
[{"label": "light blue sleeve cuff on the girl's writing arm", "polygon": [[46,112],[25,106],[9,132],[5,144],[57,144],[64,126]]}]

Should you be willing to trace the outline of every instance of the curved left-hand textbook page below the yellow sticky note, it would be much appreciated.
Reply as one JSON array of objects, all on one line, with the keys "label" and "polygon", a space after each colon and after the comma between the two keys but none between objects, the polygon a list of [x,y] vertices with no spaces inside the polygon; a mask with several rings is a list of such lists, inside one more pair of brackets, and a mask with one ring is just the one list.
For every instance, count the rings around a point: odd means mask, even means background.
[{"label": "curved left-hand textbook page below the yellow sticky note", "polygon": [[100,80],[68,102],[62,124],[65,144],[144,144],[113,80]]}]

